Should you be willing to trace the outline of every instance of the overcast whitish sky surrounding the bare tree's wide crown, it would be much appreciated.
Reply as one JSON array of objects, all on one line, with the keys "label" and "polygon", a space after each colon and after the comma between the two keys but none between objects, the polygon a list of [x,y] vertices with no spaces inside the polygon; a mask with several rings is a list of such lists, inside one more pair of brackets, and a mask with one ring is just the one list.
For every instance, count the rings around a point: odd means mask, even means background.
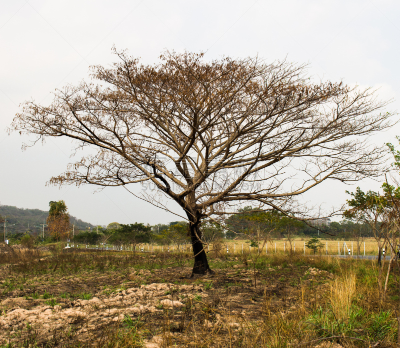
[{"label": "overcast whitish sky surrounding the bare tree's wide crown", "polygon": [[[18,104],[52,100],[51,92],[87,78],[92,64],[109,64],[113,44],[144,63],[168,50],[259,56],[310,64],[310,75],[347,84],[380,87],[399,110],[400,2],[352,1],[102,1],[13,0],[0,2],[0,202],[48,210],[63,199],[71,215],[93,224],[177,220],[123,189],[45,186],[71,160],[71,144],[49,139],[26,151],[27,136],[7,135]],[[373,138],[395,142],[400,126]],[[359,182],[362,189],[379,183]],[[306,198],[325,208],[344,203],[344,190],[328,183]]]}]

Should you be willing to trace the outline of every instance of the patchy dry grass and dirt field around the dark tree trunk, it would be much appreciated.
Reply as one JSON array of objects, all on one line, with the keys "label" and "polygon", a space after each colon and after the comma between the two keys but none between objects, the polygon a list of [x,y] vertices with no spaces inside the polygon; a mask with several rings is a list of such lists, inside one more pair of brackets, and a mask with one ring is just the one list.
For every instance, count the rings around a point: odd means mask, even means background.
[{"label": "patchy dry grass and dirt field around the dark tree trunk", "polygon": [[383,296],[373,261],[212,251],[190,277],[190,256],[2,253],[0,347],[397,347],[397,269]]}]

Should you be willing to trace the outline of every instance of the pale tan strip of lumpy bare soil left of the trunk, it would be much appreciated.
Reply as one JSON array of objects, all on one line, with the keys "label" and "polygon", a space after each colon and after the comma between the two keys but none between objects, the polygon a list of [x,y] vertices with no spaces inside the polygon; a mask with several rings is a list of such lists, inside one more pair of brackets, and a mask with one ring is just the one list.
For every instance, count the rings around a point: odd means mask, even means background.
[{"label": "pale tan strip of lumpy bare soil left of the trunk", "polygon": [[[49,306],[49,302],[26,310],[24,299],[13,299],[13,304],[19,306],[3,312],[0,316],[0,330],[9,332],[12,336],[26,327],[26,323],[32,326],[38,336],[45,339],[54,330],[67,329],[71,323],[82,322],[84,325],[77,331],[86,333],[94,330],[97,325],[109,325],[111,322],[123,322],[126,316],[142,316],[151,312],[162,312],[162,308],[178,309],[195,298],[198,292],[202,292],[203,285],[175,285],[159,284],[141,285],[140,288],[119,290],[111,294],[97,293],[90,300],[75,300],[60,306]],[[176,293],[174,297],[170,291]],[[202,293],[202,296],[207,296]],[[179,297],[180,301],[177,301]],[[6,305],[1,302],[1,307]],[[13,340],[11,339],[11,342]]]}]

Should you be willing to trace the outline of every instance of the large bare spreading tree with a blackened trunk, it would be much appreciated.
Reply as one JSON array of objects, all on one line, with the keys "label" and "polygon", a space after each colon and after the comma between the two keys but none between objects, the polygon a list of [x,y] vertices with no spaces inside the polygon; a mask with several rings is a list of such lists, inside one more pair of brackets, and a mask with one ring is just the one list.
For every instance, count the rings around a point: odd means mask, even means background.
[{"label": "large bare spreading tree with a blackened trunk", "polygon": [[[115,53],[118,62],[93,67],[93,82],[56,91],[50,106],[24,103],[12,129],[33,143],[64,136],[98,149],[51,183],[155,185],[189,221],[193,273],[210,271],[202,219],[243,201],[298,213],[295,196],[328,178],[375,175],[382,161],[365,136],[390,114],[370,89],[314,83],[285,61],[166,52],[141,65]],[[142,198],[162,204],[150,190]]]}]

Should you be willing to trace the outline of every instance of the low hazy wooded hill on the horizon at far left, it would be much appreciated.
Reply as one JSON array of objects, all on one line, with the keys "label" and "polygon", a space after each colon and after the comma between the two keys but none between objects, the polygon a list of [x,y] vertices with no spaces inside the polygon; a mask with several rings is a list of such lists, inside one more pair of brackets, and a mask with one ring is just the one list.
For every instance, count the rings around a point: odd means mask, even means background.
[{"label": "low hazy wooded hill on the horizon at far left", "polygon": [[[7,233],[25,233],[28,229],[28,224],[29,230],[31,230],[32,232],[38,232],[40,228],[34,226],[40,226],[40,224],[43,224],[43,220],[45,223],[48,216],[48,211],[43,211],[39,209],[24,209],[13,207],[10,205],[2,205],[0,206],[0,216],[2,218],[7,218],[7,225],[15,224],[14,226],[7,227]],[[69,215],[69,222],[73,224],[74,221],[75,231],[76,229],[86,230],[87,226],[90,226],[90,228],[95,227],[95,225],[92,225],[88,222],[82,221]],[[44,230],[46,231],[46,228]],[[0,235],[2,235],[2,232],[3,228],[1,227]]]}]

